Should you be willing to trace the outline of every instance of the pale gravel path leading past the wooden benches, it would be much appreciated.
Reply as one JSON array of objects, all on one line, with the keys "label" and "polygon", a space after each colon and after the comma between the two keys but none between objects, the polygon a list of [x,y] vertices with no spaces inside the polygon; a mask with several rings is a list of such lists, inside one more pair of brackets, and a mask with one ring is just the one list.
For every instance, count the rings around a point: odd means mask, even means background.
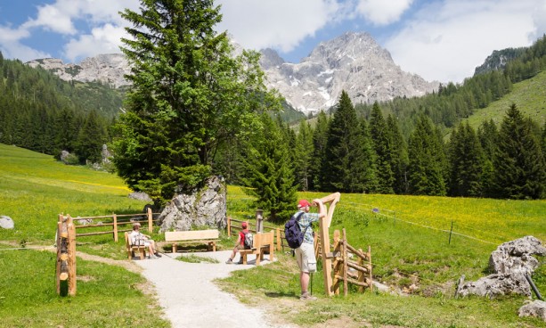
[{"label": "pale gravel path leading past the wooden benches", "polygon": [[[232,294],[221,291],[212,281],[227,277],[234,270],[254,266],[255,256],[249,256],[249,265],[227,265],[231,250],[192,253],[216,258],[220,263],[187,263],[176,260],[181,254],[167,254],[158,259],[134,260],[143,268],[143,276],[153,283],[167,319],[173,328],[222,327],[268,328],[289,327],[267,322],[265,313],[248,307]],[[239,259],[239,255],[235,257]],[[260,265],[271,263],[268,256]],[[244,321],[243,321],[244,320]]]}]

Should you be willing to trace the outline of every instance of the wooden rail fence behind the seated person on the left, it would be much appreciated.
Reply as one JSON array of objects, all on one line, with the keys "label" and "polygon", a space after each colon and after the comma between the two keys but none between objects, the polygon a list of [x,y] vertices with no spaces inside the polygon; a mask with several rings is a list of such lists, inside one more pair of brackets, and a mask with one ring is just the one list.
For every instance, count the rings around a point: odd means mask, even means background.
[{"label": "wooden rail fence behind the seated person on the left", "polygon": [[[84,237],[90,235],[99,235],[99,234],[112,234],[114,242],[118,242],[118,234],[130,232],[133,230],[132,225],[136,222],[140,223],[143,226],[148,226],[148,232],[153,231],[154,222],[157,223],[157,219],[154,219],[154,215],[159,213],[152,213],[151,209],[148,209],[146,213],[137,213],[137,214],[115,214],[112,213],[109,216],[101,217],[77,217],[72,218],[79,223],[76,225],[77,230],[88,230],[93,229],[95,231],[91,233],[78,233],[77,237]],[[69,216],[68,216],[69,217]],[[102,219],[106,222],[97,222],[97,220]],[[129,226],[127,226],[129,225]],[[120,229],[120,226],[122,227]]]}]

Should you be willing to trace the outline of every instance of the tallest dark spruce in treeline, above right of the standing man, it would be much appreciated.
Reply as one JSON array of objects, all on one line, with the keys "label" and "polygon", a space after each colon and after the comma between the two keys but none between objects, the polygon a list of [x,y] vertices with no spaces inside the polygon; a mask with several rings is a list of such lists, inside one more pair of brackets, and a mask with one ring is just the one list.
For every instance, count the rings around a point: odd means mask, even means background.
[{"label": "tallest dark spruce in treeline, above right of the standing man", "polygon": [[349,95],[342,91],[328,133],[325,167],[327,191],[362,193],[364,185],[363,135]]}]

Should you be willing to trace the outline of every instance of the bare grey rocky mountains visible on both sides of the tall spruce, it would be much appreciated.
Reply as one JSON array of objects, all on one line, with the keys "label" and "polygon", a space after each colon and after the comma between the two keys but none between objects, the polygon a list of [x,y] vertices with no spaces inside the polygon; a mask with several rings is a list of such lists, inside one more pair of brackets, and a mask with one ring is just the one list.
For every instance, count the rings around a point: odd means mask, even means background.
[{"label": "bare grey rocky mountains visible on both sides of the tall spruce", "polygon": [[[235,52],[240,45],[233,43]],[[432,93],[439,82],[428,82],[404,72],[368,33],[346,33],[317,45],[299,63],[284,61],[272,49],[261,51],[260,64],[267,86],[276,88],[297,111],[312,114],[335,105],[342,90],[354,104],[388,101]],[[79,64],[46,58],[27,62],[51,70],[64,80],[101,81],[118,88],[127,86],[130,68],[120,53],[99,54]]]}]

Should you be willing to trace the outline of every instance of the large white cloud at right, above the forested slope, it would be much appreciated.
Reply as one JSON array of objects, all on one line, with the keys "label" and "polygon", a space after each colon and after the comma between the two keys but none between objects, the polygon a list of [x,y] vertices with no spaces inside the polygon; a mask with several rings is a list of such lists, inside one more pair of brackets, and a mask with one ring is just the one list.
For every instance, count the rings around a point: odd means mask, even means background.
[{"label": "large white cloud at right, above the forested slope", "polygon": [[419,12],[385,44],[403,70],[442,82],[474,74],[493,50],[527,46],[541,0],[448,0]]}]

